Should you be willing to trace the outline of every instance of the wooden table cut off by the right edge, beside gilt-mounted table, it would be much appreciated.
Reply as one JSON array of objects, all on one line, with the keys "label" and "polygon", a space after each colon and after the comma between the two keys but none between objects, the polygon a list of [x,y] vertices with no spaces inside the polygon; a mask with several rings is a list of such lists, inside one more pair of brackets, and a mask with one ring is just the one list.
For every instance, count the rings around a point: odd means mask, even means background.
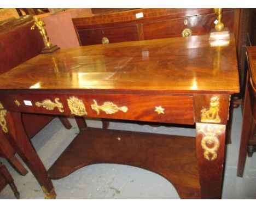
[{"label": "wooden table cut off by the right edge, beside gilt-mounted table", "polygon": [[241,133],[240,150],[238,157],[237,176],[243,176],[246,155],[252,157],[256,151],[256,46],[248,47],[249,71],[243,107],[243,124]]}]

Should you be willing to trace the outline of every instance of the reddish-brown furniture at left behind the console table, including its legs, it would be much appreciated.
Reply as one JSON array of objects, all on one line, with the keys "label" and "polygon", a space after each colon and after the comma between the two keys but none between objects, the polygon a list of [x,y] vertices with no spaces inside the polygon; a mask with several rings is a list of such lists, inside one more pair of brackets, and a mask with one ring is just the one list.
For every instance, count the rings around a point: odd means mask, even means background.
[{"label": "reddish-brown furniture at left behind the console table, including its legs", "polygon": [[[0,23],[0,75],[40,54],[44,42],[38,31],[31,31],[32,25],[33,18],[30,15]],[[54,118],[53,115],[22,114],[27,136],[32,138]],[[67,118],[59,118],[67,129],[71,129]],[[0,157],[7,159],[21,175],[26,175],[27,170],[15,157],[15,147],[1,133],[0,138]]]}]

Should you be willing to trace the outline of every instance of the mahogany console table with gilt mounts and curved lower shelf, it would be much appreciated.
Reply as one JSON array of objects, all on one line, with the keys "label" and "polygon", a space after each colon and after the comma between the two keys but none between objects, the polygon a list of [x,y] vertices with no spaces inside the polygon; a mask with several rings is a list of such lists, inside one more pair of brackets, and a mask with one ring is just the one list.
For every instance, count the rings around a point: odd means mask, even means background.
[{"label": "mahogany console table with gilt mounts and curved lower shelf", "polygon": [[[239,82],[234,36],[222,46],[208,39],[40,54],[0,76],[0,137],[16,146],[46,198],[56,197],[51,179],[93,163],[152,170],[181,198],[221,198],[225,127]],[[48,171],[26,136],[22,112],[77,118],[80,133]],[[196,124],[196,138],[96,129],[86,127],[83,117]]]}]

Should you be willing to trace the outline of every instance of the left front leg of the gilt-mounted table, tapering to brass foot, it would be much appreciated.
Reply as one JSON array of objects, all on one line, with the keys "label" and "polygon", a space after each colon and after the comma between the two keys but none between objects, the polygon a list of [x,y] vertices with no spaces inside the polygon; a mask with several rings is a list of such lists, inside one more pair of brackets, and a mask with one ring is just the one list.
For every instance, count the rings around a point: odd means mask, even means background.
[{"label": "left front leg of the gilt-mounted table, tapering to brass foot", "polygon": [[24,130],[21,113],[8,112],[7,113],[7,127],[8,132],[5,132],[9,141],[15,146],[18,154],[30,168],[33,175],[36,177],[40,186],[45,194],[45,199],[56,198],[53,183],[48,178],[48,173],[44,167],[44,164],[34,150],[30,139]]}]

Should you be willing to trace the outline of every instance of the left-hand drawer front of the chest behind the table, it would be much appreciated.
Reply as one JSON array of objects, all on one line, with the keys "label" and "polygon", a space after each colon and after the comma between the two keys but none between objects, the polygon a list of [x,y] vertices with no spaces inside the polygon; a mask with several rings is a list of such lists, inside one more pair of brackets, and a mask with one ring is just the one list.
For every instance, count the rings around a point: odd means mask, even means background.
[{"label": "left-hand drawer front of the chest behind the table", "polygon": [[82,29],[77,32],[82,46],[102,44],[103,38],[107,38],[109,43],[139,40],[137,25]]}]

